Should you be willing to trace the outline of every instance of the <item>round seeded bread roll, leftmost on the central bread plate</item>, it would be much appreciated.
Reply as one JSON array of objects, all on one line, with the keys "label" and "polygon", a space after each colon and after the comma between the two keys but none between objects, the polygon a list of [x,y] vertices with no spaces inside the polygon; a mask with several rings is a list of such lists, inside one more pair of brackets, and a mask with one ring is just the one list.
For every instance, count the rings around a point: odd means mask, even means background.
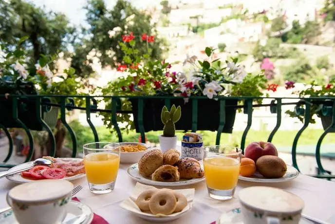
[{"label": "round seeded bread roll, leftmost on the central bread plate", "polygon": [[163,154],[160,149],[153,149],[145,153],[138,162],[138,170],[142,176],[150,176],[163,165]]}]

